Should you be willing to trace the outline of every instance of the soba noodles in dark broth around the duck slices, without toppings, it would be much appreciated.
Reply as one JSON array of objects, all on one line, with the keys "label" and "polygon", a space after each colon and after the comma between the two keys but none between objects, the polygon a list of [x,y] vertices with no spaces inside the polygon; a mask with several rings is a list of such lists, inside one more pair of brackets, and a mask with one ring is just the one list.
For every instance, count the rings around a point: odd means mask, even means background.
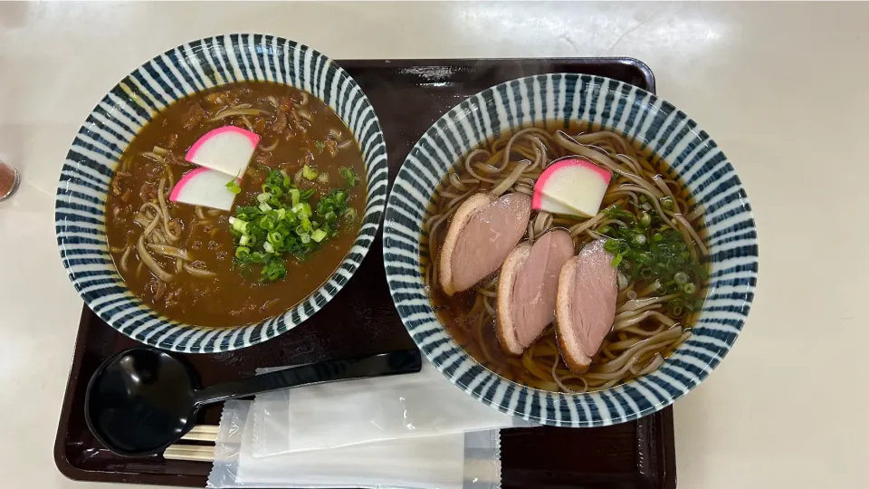
[{"label": "soba noodles in dark broth around the duck slices, without toppings", "polygon": [[[591,368],[577,374],[561,361],[556,328],[551,324],[520,357],[501,350],[493,331],[497,275],[473,291],[449,298],[440,291],[436,266],[449,219],[465,198],[478,192],[530,195],[537,178],[552,161],[573,155],[613,171],[600,211],[587,219],[532,213],[526,239],[533,243],[550,229],[564,228],[573,238],[575,250],[579,250],[592,240],[606,239],[614,227],[628,226],[625,221],[640,222],[644,214],[654,213],[657,223],[678,231],[692,259],[703,261],[708,250],[701,237],[702,208],[692,207],[687,191],[661,171],[664,168],[655,167],[663,161],[638,154],[630,141],[608,130],[587,130],[571,136],[565,130],[528,128],[473,150],[444,178],[424,222],[424,272],[435,310],[454,338],[483,365],[530,387],[585,392],[610,388],[659,368],[691,335],[697,308],[673,307],[680,294],[668,293],[672,287],[658,277],[629,280],[620,272],[613,331]],[[616,216],[614,210],[621,216]],[[702,289],[702,283],[698,289]],[[697,296],[702,300],[702,291]]]}]

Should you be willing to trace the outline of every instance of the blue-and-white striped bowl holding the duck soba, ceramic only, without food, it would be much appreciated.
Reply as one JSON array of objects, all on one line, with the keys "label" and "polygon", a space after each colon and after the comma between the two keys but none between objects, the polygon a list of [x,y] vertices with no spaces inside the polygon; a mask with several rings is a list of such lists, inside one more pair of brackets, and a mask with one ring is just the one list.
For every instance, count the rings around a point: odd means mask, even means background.
[{"label": "blue-and-white striped bowl holding the duck soba, ceramic only, without food", "polygon": [[[444,329],[425,292],[422,222],[435,187],[480,141],[543,120],[584,120],[642,141],[671,163],[706,207],[709,295],[691,338],[664,366],[590,394],[560,394],[501,378],[473,360]],[[709,135],[667,101],[633,85],[578,74],[520,78],[482,91],[437,120],[407,156],[389,196],[384,260],[407,331],[447,379],[501,411],[563,427],[630,421],[669,406],[705,379],[739,335],[758,276],[751,206],[730,161]],[[423,250],[425,252],[425,250]]]}]

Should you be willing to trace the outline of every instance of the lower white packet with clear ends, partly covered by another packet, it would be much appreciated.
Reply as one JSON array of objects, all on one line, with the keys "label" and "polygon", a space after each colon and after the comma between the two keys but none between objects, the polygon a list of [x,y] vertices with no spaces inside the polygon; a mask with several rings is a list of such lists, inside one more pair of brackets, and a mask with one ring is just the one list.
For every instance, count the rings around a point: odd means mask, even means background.
[{"label": "lower white packet with clear ends, partly covered by another packet", "polygon": [[251,456],[251,401],[227,401],[206,487],[498,489],[499,432],[389,440],[331,450]]}]

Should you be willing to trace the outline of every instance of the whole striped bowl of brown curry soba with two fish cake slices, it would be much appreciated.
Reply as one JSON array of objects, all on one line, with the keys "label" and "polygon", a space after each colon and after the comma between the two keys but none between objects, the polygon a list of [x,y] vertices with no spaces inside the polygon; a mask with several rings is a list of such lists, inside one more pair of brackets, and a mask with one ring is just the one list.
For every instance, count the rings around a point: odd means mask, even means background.
[{"label": "whole striped bowl of brown curry soba with two fish cake slices", "polygon": [[329,302],[386,195],[383,134],[349,74],[302,44],[232,34],[155,57],[97,104],[62,167],[55,227],[103,321],[216,352]]}]

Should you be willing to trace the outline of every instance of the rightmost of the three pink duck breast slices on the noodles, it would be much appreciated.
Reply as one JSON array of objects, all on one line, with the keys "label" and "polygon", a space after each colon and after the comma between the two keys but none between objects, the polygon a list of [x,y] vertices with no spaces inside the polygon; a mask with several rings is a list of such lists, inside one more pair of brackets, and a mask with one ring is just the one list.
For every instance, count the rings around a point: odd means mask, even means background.
[{"label": "rightmost of the three pink duck breast slices on the noodles", "polygon": [[616,268],[604,241],[584,246],[561,268],[555,315],[559,347],[568,367],[581,373],[591,365],[616,319]]}]

